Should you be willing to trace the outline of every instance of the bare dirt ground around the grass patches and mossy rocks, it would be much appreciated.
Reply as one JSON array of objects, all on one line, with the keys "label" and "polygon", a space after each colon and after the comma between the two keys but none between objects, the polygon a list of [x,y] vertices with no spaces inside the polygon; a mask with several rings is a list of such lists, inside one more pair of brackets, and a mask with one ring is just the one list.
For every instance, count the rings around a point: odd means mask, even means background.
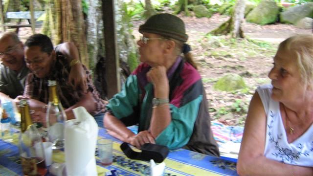
[{"label": "bare dirt ground around the grass patches and mossy rocks", "polygon": [[[250,88],[248,93],[216,91],[212,88],[215,81],[204,82],[207,98],[209,99],[210,107],[212,109],[219,110],[222,107],[230,106],[236,99],[241,99],[245,101],[246,104],[248,104],[254,89],[261,84],[269,83],[267,74],[272,66],[272,57],[274,55],[270,57],[266,55],[261,55],[261,57],[248,56],[248,58],[243,61],[236,57],[225,60],[203,54],[206,52],[206,50],[201,47],[201,41],[204,35],[228,20],[229,16],[215,14],[211,18],[201,19],[196,17],[185,17],[180,14],[178,16],[185,22],[186,31],[189,35],[189,40],[187,43],[192,46],[195,59],[199,63],[202,63],[199,69],[202,79],[216,80],[227,72],[237,74],[247,73],[250,75],[245,77],[246,84]],[[138,33],[138,27],[142,23],[143,21],[133,22],[133,34],[135,39],[138,39],[140,36]],[[312,34],[312,30],[299,29],[291,24],[276,23],[261,26],[253,23],[243,22],[242,25],[247,38],[270,42],[275,48],[280,42],[292,35]],[[36,32],[40,33],[40,28],[37,28]],[[31,34],[31,28],[24,27],[20,29],[19,37],[21,38],[22,42],[24,42]],[[203,63],[205,64],[203,65]],[[210,113],[214,120],[220,120],[225,124],[237,125],[239,123],[238,119],[240,117],[238,115],[227,117],[228,121],[225,122],[223,117],[217,116],[217,111]],[[245,116],[245,114],[242,116]]]}]

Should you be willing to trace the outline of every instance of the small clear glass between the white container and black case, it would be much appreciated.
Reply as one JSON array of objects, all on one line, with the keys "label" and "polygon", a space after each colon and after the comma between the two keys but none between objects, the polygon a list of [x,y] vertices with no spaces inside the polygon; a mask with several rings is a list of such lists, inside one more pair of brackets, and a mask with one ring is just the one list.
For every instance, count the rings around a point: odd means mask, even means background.
[{"label": "small clear glass between the white container and black case", "polygon": [[107,138],[101,138],[97,141],[98,154],[103,166],[111,165],[113,162],[113,141]]}]

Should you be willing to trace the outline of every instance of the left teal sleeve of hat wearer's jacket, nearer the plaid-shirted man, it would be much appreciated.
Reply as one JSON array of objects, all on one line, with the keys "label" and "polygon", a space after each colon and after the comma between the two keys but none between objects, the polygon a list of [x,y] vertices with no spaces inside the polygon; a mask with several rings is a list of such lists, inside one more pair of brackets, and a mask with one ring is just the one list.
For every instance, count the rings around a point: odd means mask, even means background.
[{"label": "left teal sleeve of hat wearer's jacket, nearer the plaid-shirted man", "polygon": [[109,100],[106,106],[107,110],[111,111],[118,119],[129,116],[134,112],[133,107],[138,104],[138,93],[136,76],[130,75],[122,90]]}]

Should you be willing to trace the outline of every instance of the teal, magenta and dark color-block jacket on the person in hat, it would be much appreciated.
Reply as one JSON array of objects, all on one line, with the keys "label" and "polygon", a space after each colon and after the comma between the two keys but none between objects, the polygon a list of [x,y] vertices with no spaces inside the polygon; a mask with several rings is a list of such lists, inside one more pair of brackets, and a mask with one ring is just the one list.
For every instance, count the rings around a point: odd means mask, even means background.
[{"label": "teal, magenta and dark color-block jacket on the person in hat", "polygon": [[[150,68],[147,64],[140,64],[106,107],[126,126],[138,124],[138,132],[149,129],[152,116],[154,88],[146,78]],[[199,72],[179,56],[167,71],[167,76],[172,121],[156,137],[156,144],[170,149],[184,147],[219,155],[210,129],[210,116]]]}]

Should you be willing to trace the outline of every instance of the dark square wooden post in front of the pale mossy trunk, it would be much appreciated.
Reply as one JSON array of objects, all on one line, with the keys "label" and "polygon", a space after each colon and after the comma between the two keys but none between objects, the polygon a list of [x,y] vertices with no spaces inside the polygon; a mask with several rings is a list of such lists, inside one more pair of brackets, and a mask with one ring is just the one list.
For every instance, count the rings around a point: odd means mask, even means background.
[{"label": "dark square wooden post in front of the pale mossy trunk", "polygon": [[108,98],[120,91],[119,57],[116,45],[114,0],[102,0],[102,20],[106,50],[106,82]]}]

